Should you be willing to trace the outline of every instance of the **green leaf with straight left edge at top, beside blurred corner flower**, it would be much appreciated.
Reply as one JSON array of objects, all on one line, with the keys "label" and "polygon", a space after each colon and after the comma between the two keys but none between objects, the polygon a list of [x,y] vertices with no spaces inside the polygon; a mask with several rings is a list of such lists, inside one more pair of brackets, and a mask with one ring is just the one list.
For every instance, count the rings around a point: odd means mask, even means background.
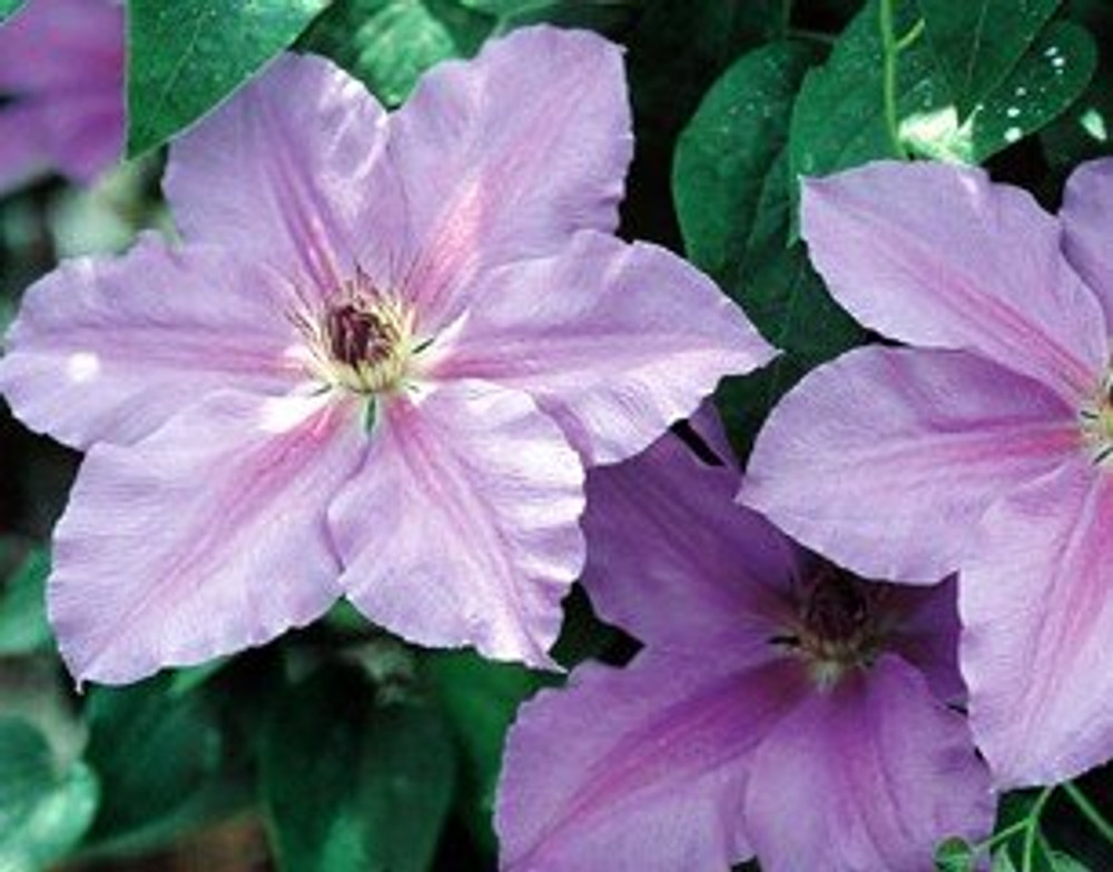
[{"label": "green leaf with straight left edge at top, beside blurred corner flower", "polygon": [[289,46],[328,0],[130,0],[128,157],[209,112]]}]

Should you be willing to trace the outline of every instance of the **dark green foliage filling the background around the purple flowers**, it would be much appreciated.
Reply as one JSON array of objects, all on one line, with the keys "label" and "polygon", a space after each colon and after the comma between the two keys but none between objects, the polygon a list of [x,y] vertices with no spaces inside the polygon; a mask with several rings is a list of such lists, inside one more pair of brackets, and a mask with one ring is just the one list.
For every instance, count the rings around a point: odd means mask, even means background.
[{"label": "dark green foliage filling the background around the purple flowers", "polygon": [[[0,2],[0,19],[18,6]],[[1054,206],[1072,167],[1113,151],[1113,3],[1020,12],[1011,0],[130,0],[129,150],[154,153],[89,190],[46,180],[0,200],[0,328],[59,257],[173,232],[158,147],[292,43],[393,107],[492,36],[589,27],[627,47],[637,153],[623,232],[686,252],[785,349],[719,392],[745,452],[797,378],[868,338],[795,239],[800,172],[936,157],[986,164]],[[229,828],[247,845],[229,869],[494,868],[505,732],[559,676],[417,652],[337,608],[264,650],[78,695],[43,607],[77,458],[0,410],[0,869],[63,856],[140,869],[137,856]],[[581,591],[569,597],[561,663],[634,648]],[[1107,770],[1077,786],[1113,809]],[[942,846],[938,866],[992,853],[999,870],[1113,869],[1066,789],[1006,797],[997,831]]]}]

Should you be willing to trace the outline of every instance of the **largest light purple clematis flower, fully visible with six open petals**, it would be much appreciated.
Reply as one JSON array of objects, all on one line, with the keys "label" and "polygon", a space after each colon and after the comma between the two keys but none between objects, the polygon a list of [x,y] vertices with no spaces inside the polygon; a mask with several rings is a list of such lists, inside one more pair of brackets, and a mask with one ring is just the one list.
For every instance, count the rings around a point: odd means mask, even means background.
[{"label": "largest light purple clematis flower, fully visible with six open petals", "polygon": [[341,595],[432,645],[550,663],[583,467],[771,349],[612,232],[618,49],[522,30],[387,117],[288,56],[170,150],[186,245],[62,266],[0,388],[89,448],[49,605],[80,680],[260,644]]}]

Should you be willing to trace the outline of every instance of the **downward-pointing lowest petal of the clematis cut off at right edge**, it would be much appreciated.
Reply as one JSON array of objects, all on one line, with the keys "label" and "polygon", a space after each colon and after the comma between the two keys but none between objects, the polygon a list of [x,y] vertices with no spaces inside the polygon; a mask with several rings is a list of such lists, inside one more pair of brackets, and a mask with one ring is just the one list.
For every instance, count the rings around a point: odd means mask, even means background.
[{"label": "downward-pointing lowest petal of the clematis cut off at right edge", "polygon": [[1113,754],[1111,518],[1109,472],[1078,458],[991,507],[963,567],[971,719],[1004,787]]}]

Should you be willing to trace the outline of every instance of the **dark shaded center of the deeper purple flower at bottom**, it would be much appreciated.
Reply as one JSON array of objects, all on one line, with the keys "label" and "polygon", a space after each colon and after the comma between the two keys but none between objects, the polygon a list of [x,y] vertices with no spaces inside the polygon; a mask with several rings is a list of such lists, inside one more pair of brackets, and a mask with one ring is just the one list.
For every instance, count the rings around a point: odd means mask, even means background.
[{"label": "dark shaded center of the deeper purple flower at bottom", "polygon": [[877,658],[883,634],[876,588],[824,564],[807,583],[794,625],[772,642],[799,656],[816,684],[834,685]]}]

